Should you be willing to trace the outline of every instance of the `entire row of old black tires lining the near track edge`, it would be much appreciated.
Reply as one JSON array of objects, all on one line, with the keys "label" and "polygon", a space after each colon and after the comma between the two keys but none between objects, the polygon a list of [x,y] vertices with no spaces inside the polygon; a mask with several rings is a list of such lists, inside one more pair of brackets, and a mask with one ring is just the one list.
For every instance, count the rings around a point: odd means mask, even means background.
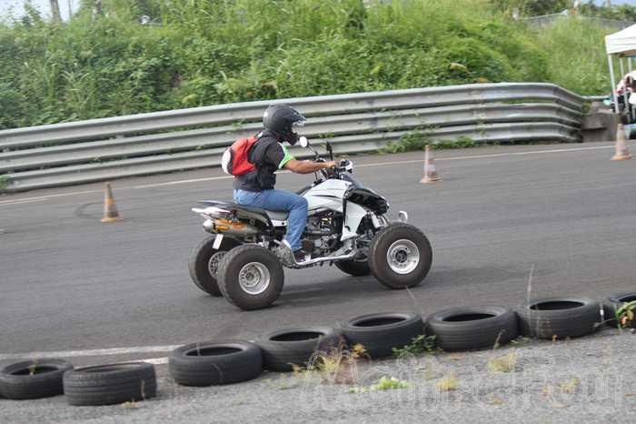
[{"label": "entire row of old black tires lining the near track edge", "polygon": [[[368,314],[344,320],[335,328],[284,328],[254,342],[206,341],[175,349],[169,358],[174,382],[213,386],[255,379],[263,369],[292,371],[316,351],[362,345],[369,358],[384,358],[422,335],[435,336],[444,350],[471,350],[502,345],[519,334],[534,338],[576,338],[600,323],[614,327],[636,292],[619,293],[598,302],[591,298],[542,298],[513,309],[460,307],[433,313]],[[633,309],[631,309],[633,314]],[[634,327],[634,320],[629,325]],[[129,362],[73,368],[61,359],[29,359],[0,368],[0,398],[38,399],[65,394],[71,405],[113,405],[156,395],[154,366]]]}]

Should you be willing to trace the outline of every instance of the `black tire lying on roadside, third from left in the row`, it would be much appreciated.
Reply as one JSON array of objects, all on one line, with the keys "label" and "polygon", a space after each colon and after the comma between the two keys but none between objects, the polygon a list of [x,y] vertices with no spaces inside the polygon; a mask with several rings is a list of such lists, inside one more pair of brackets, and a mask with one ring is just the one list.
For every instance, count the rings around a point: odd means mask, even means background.
[{"label": "black tire lying on roadside, third from left in the row", "polygon": [[174,349],[168,369],[182,386],[233,384],[261,375],[263,354],[247,341],[202,341]]}]

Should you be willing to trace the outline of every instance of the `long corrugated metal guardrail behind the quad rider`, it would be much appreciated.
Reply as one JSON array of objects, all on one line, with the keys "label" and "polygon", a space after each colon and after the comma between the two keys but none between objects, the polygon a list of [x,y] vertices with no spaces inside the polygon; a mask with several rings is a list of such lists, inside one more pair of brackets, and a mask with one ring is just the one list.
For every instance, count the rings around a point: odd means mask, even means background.
[{"label": "long corrugated metal guardrail behind the quad rider", "polygon": [[[339,154],[377,150],[413,131],[432,140],[573,142],[579,140],[586,101],[552,84],[503,83],[258,101],[16,128],[0,131],[0,174],[8,177],[5,191],[23,191],[218,166],[224,148],[256,133],[263,110],[276,103],[301,109],[311,118],[303,134],[318,143],[331,141]],[[188,129],[192,126],[199,128]]]}]

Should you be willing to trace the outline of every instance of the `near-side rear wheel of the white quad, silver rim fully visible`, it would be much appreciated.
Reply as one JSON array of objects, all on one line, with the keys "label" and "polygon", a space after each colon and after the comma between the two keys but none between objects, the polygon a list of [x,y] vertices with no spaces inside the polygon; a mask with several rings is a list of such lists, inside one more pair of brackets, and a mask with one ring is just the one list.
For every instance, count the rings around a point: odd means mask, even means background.
[{"label": "near-side rear wheel of the white quad, silver rim fully visible", "polygon": [[283,290],[283,265],[264,247],[234,247],[221,259],[218,282],[224,298],[234,306],[243,310],[267,308]]}]

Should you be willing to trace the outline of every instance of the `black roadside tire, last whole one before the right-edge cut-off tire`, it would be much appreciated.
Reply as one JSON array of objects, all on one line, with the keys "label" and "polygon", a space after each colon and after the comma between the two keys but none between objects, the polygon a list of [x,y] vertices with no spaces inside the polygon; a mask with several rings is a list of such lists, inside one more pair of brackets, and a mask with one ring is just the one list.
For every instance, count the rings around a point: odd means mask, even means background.
[{"label": "black roadside tire, last whole one before the right-edge cut-off tire", "polygon": [[542,298],[524,302],[514,311],[522,335],[534,338],[585,336],[601,321],[601,306],[591,298]]}]

